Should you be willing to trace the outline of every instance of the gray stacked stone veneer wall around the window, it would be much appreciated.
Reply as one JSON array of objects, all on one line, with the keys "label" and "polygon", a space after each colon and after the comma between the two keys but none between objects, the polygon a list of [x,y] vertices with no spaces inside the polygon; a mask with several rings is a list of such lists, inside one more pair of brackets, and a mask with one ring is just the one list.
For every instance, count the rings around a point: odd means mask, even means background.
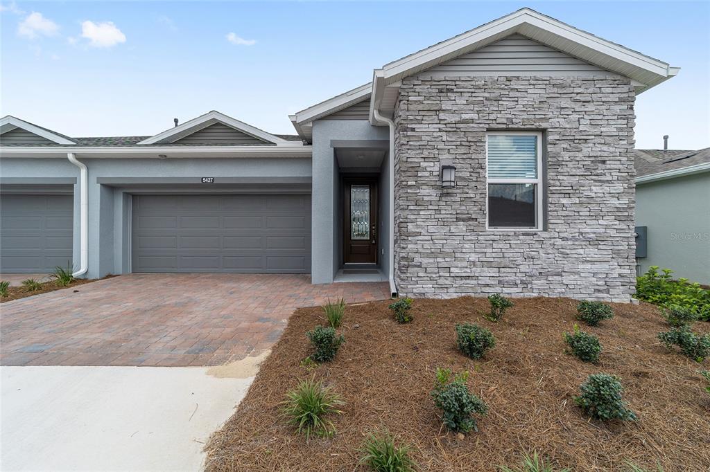
[{"label": "gray stacked stone veneer wall around the window", "polygon": [[[623,78],[404,79],[395,109],[400,294],[630,301],[634,100]],[[542,232],[486,230],[486,130],[544,132]],[[441,187],[444,157],[457,167],[454,189]]]}]

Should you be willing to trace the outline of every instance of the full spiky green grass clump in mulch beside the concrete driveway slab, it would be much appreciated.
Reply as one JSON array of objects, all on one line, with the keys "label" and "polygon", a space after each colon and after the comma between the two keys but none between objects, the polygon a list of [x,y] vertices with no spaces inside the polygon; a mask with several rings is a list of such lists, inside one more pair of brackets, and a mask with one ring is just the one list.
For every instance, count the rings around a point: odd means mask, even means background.
[{"label": "full spiky green grass clump in mulch beside the concrete driveway slab", "polygon": [[332,421],[326,416],[340,415],[342,411],[338,407],[344,402],[330,387],[311,379],[302,381],[288,392],[282,405],[290,425],[296,427],[298,434],[305,432],[306,439],[310,439],[311,434],[329,437],[335,432]]}]

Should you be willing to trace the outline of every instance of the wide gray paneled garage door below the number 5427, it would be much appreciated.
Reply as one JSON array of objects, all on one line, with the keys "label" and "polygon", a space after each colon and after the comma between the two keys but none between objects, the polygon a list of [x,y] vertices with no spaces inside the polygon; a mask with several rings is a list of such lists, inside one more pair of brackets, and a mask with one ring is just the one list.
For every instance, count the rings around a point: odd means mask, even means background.
[{"label": "wide gray paneled garage door below the number 5427", "polygon": [[133,195],[133,272],[310,273],[310,196]]}]

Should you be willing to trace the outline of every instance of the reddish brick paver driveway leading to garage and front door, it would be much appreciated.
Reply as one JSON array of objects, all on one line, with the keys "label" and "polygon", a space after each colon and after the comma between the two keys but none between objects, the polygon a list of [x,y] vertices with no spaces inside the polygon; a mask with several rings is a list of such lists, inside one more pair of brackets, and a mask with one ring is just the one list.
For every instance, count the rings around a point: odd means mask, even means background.
[{"label": "reddish brick paver driveway leading to garage and front door", "polygon": [[5,366],[209,366],[274,344],[295,308],[388,297],[302,275],[129,274],[0,305]]}]

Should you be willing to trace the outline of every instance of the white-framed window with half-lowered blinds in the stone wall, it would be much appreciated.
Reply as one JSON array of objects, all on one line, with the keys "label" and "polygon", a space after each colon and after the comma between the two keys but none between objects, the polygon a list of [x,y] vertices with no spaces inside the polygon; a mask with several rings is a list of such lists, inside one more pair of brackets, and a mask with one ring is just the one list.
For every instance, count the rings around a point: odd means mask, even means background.
[{"label": "white-framed window with half-lowered blinds in the stone wall", "polygon": [[542,133],[486,133],[489,230],[542,229]]}]

